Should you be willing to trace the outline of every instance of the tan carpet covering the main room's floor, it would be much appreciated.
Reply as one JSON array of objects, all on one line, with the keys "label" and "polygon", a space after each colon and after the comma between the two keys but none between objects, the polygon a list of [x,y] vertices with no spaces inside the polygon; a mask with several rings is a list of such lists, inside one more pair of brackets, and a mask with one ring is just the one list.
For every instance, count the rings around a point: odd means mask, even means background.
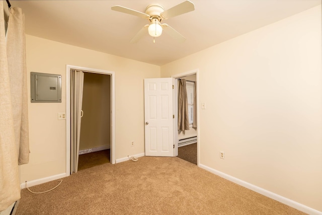
[{"label": "tan carpet covering the main room's floor", "polygon": [[303,214],[177,157],[103,164],[21,194],[17,215]]}]

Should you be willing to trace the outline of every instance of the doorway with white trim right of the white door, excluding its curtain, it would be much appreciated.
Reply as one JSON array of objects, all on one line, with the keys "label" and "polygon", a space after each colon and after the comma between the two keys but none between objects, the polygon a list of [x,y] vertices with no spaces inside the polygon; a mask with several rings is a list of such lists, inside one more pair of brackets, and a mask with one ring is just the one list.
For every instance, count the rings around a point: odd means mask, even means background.
[{"label": "doorway with white trim right of the white door, excluding its curtain", "polygon": [[[199,165],[199,111],[198,111],[198,69],[193,71],[188,71],[187,73],[178,74],[172,76],[175,78],[175,96],[174,96],[174,111],[175,120],[175,145],[176,152],[175,155],[183,160],[186,160],[190,163]],[[189,129],[188,130],[178,130],[178,116],[179,116],[179,82],[180,80],[186,80],[186,90],[188,98],[188,116],[189,116]],[[195,94],[195,99],[194,99]],[[195,104],[194,104],[195,103]],[[194,111],[195,109],[195,111]],[[196,116],[194,119],[193,115]],[[196,122],[196,125],[193,125],[193,121]]]}]

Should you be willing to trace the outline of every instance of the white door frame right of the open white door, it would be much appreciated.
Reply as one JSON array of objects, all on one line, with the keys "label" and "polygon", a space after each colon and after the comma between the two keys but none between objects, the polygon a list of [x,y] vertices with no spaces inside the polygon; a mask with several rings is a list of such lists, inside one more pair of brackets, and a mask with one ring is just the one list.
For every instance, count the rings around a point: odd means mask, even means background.
[{"label": "white door frame right of the open white door", "polygon": [[[186,71],[185,73],[180,73],[180,74],[176,74],[176,75],[173,75],[171,76],[171,78],[174,78],[174,79],[179,79],[179,78],[183,78],[183,77],[186,77],[186,76],[190,76],[190,75],[194,75],[196,74],[196,81],[197,81],[197,104],[196,104],[196,107],[197,107],[197,166],[199,167],[199,164],[200,164],[200,132],[199,132],[199,128],[200,128],[200,123],[199,123],[199,69],[194,69],[194,70],[191,70],[191,71]],[[175,136],[175,156],[178,156],[178,89],[177,89],[177,82],[175,81],[175,96],[173,97],[174,99],[174,115],[175,115],[175,120],[174,120],[174,136]]]}]

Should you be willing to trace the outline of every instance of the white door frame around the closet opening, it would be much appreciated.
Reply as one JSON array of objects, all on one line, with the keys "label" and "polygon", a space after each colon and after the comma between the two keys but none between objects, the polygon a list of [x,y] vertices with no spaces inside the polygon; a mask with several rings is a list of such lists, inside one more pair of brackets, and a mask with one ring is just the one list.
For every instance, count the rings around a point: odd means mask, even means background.
[{"label": "white door frame around the closet opening", "polygon": [[111,164],[115,164],[115,72],[66,65],[66,176],[70,175],[70,69],[88,71],[89,73],[111,76]]}]

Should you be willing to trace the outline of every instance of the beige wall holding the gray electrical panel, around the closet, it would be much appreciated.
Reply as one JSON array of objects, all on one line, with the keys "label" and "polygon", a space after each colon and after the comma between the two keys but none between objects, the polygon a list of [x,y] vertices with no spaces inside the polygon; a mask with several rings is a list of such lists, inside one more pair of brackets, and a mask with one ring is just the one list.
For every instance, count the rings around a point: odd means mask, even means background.
[{"label": "beige wall holding the gray electrical panel, around the closet", "polygon": [[[143,79],[159,78],[159,66],[30,35],[26,54],[31,153],[29,164],[20,166],[21,182],[66,171],[66,121],[57,120],[66,112],[66,64],[115,71],[116,159],[144,152]],[[62,102],[30,103],[30,71],[62,75]]]}]

